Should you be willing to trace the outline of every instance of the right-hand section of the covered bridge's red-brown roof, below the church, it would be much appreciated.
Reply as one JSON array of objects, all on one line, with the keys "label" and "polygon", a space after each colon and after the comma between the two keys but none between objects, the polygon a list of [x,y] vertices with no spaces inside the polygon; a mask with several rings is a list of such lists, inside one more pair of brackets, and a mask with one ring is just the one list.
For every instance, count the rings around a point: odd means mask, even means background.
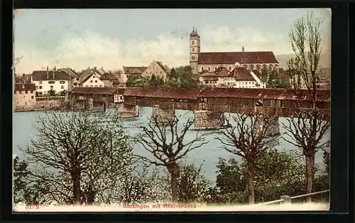
[{"label": "right-hand section of the covered bridge's red-brown roof, below the church", "polygon": [[[311,100],[307,89],[302,90],[303,100]],[[253,98],[253,99],[278,99],[296,100],[292,89],[267,89],[267,88],[206,88],[198,97],[228,97],[228,98]],[[319,102],[330,102],[329,90],[318,90]]]}]

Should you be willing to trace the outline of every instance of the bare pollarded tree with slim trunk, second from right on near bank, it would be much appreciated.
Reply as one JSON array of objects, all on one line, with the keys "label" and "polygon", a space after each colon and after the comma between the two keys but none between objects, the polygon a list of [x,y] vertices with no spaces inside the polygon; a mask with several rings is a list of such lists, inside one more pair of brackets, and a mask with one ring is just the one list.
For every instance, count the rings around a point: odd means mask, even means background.
[{"label": "bare pollarded tree with slim trunk, second from right on near bank", "polygon": [[[234,124],[231,124],[234,121]],[[215,137],[222,148],[229,153],[246,159],[248,165],[249,204],[255,201],[254,168],[258,156],[272,146],[276,138],[273,134],[273,117],[266,118],[261,114],[236,114],[226,118],[228,128],[221,131],[222,137]]]}]

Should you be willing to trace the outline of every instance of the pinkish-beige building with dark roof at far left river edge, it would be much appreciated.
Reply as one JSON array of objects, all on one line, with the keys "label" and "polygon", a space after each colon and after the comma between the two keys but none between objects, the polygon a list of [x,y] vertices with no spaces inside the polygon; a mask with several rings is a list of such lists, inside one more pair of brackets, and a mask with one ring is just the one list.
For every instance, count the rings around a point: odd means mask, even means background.
[{"label": "pinkish-beige building with dark roof at far left river edge", "polygon": [[15,84],[13,108],[15,111],[30,111],[35,109],[35,85]]}]

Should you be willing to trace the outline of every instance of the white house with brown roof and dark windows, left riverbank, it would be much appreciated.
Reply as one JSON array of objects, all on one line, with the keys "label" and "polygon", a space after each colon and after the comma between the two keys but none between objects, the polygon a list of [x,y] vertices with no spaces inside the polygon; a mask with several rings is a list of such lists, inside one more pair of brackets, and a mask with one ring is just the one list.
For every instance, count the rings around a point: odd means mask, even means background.
[{"label": "white house with brown roof and dark windows, left riverbank", "polygon": [[38,94],[68,92],[71,88],[72,78],[64,70],[35,70],[31,75],[31,83],[35,84]]}]

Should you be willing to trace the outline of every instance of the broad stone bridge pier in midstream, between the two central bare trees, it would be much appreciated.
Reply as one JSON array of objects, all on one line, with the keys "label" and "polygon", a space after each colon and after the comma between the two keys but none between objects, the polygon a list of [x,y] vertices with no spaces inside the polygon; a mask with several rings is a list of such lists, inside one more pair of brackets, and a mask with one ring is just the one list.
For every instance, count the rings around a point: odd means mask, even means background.
[{"label": "broad stone bridge pier in midstream, between the two central bare trees", "polygon": [[195,113],[195,129],[222,129],[224,127],[224,112],[197,110]]}]

